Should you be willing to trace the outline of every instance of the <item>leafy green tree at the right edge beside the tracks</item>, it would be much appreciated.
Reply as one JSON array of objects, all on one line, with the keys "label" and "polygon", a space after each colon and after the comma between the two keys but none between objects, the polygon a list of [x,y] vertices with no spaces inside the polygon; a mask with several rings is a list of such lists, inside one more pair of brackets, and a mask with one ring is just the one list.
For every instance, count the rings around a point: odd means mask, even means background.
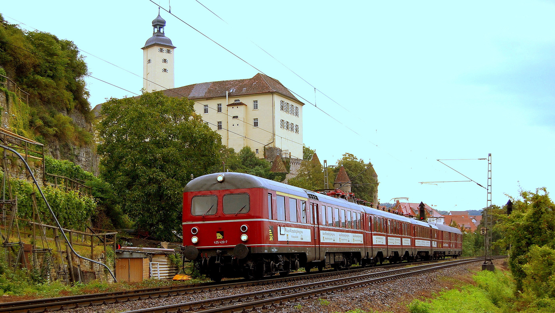
[{"label": "leafy green tree at the right edge beside the tracks", "polygon": [[[531,247],[555,248],[555,205],[546,188],[536,192],[521,191],[522,199],[513,200],[511,215],[498,215],[498,230],[504,238],[500,246],[509,248],[509,269],[522,290],[523,281],[528,279],[526,265],[531,259]],[[541,254],[541,251],[532,254]],[[554,286],[555,287],[555,286]]]}]

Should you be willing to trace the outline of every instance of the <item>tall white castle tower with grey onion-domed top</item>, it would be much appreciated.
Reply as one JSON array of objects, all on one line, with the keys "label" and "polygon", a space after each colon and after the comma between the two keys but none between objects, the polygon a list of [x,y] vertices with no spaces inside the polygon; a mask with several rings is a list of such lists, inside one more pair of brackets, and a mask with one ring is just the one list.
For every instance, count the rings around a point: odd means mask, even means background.
[{"label": "tall white castle tower with grey onion-domed top", "polygon": [[[152,37],[143,49],[143,88],[147,92],[174,88],[174,49],[164,34],[166,21],[160,16],[152,21]],[[147,80],[148,79],[148,80]],[[150,81],[149,81],[150,80]]]}]

